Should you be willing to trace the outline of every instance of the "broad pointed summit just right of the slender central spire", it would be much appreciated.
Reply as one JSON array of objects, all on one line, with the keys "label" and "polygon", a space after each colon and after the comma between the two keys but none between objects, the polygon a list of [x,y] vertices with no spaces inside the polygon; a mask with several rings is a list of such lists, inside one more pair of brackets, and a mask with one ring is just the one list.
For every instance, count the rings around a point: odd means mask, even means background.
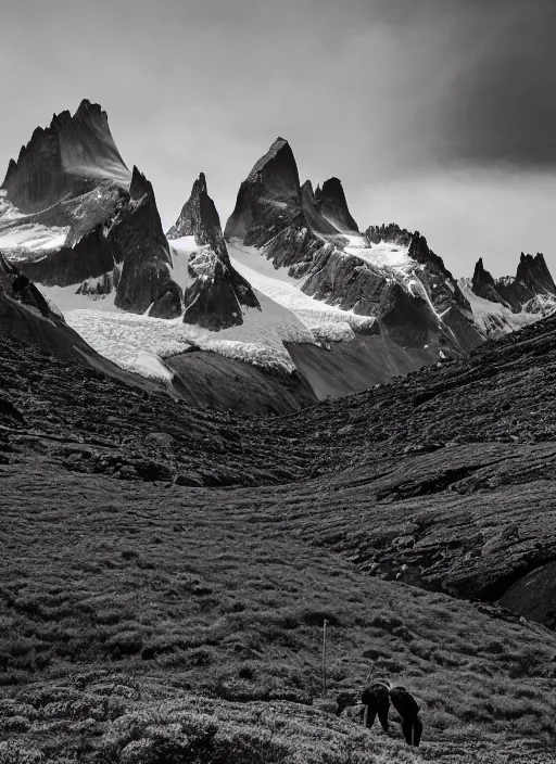
[{"label": "broad pointed summit just right of the slender central spire", "polygon": [[288,141],[277,138],[241,183],[224,237],[264,246],[300,215],[298,165]]}]

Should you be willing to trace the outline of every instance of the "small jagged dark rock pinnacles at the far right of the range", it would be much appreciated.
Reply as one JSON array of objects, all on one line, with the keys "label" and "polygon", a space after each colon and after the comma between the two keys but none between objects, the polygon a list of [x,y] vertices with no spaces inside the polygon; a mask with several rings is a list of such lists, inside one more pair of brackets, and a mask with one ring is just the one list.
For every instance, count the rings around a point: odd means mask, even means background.
[{"label": "small jagged dark rock pinnacles at the far right of the range", "polygon": [[501,303],[514,313],[523,309],[538,313],[539,306],[534,305],[538,297],[556,300],[556,284],[541,253],[534,257],[521,253],[515,278],[506,276],[501,279],[492,277],[480,257],[475,266],[471,289],[479,297]]}]

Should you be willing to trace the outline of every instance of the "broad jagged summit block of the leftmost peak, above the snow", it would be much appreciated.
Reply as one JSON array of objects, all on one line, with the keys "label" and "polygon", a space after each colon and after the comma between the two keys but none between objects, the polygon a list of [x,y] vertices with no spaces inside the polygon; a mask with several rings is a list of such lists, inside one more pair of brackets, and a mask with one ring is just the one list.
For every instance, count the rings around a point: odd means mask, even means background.
[{"label": "broad jagged summit block of the leftmost peak, above the snow", "polygon": [[49,127],[35,129],[17,161],[10,161],[2,189],[22,212],[35,213],[99,182],[127,187],[129,179],[106,113],[85,100],[73,116],[68,111],[54,114]]}]

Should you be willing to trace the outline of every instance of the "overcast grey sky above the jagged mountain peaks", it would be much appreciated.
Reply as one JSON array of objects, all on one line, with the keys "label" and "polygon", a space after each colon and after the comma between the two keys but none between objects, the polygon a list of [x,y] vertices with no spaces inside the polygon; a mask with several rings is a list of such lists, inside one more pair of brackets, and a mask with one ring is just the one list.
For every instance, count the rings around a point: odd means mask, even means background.
[{"label": "overcast grey sky above the jagged mountain peaks", "polygon": [[0,175],[88,98],[167,227],[201,170],[224,224],[282,136],[359,227],[556,277],[555,39],[556,0],[2,0]]}]

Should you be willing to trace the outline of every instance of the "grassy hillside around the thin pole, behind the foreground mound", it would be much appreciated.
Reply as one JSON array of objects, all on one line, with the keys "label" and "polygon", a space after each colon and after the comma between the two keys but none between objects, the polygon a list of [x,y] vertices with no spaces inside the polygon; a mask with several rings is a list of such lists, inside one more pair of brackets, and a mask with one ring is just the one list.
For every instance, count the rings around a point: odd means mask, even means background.
[{"label": "grassy hillside around the thin pole, behind the foreground mound", "polygon": [[[37,457],[25,469],[0,468],[10,497],[2,509],[0,682],[4,697],[35,709],[16,713],[15,725],[2,715],[9,739],[73,755],[85,729],[90,750],[78,760],[99,756],[106,725],[130,712],[116,704],[89,716],[81,709],[91,677],[102,679],[91,672],[132,677],[140,693],[134,709],[143,703],[149,713],[157,700],[152,683],[170,704],[187,692],[311,703],[320,696],[324,617],[329,697],[377,674],[406,684],[425,710],[422,755],[428,746],[439,753],[442,740],[554,739],[556,635],[545,627],[356,571],[298,538],[280,492],[126,484],[48,468]],[[317,498],[298,497],[302,530],[318,521]],[[56,689],[60,683],[66,689]],[[309,713],[283,708],[300,725]],[[45,718],[64,722],[64,736],[54,741]],[[89,731],[77,724],[90,718]],[[312,718],[332,724],[321,711]],[[303,725],[299,735],[305,739]],[[376,733],[371,739],[380,741]]]}]

